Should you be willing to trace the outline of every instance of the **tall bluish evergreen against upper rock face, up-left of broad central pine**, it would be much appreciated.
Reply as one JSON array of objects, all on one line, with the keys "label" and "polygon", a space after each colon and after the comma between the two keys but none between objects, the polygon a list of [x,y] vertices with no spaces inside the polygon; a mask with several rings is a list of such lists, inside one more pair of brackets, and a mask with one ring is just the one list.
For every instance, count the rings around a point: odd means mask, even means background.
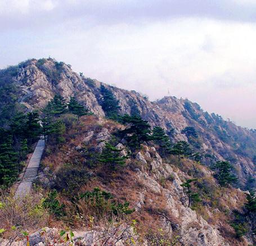
[{"label": "tall bluish evergreen against upper rock face, up-left of broad central pine", "polygon": [[101,86],[102,100],[100,102],[102,109],[104,110],[106,117],[116,119],[119,113],[119,100],[116,100],[113,92],[106,89],[105,86]]}]

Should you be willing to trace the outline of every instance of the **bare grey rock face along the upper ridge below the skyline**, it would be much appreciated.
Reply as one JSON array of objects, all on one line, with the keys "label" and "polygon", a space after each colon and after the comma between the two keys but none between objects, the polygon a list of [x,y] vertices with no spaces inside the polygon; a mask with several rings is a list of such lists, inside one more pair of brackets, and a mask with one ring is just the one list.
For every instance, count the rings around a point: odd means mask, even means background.
[{"label": "bare grey rock face along the upper ridge below the skyline", "polygon": [[[20,103],[28,109],[41,108],[55,94],[61,94],[65,99],[75,96],[91,112],[99,116],[105,115],[99,104],[102,83],[79,76],[72,71],[71,66],[54,59],[32,59],[21,63],[12,82],[22,91]],[[255,165],[252,161],[256,155],[255,131],[237,127],[232,122],[224,121],[219,115],[203,112],[198,104],[188,100],[168,96],[151,102],[136,91],[105,86],[119,100],[120,113],[130,114],[132,107],[137,106],[143,119],[148,120],[152,126],[163,127],[170,133],[173,141],[190,140],[182,130],[188,126],[194,127],[199,134],[197,143],[200,145],[200,152],[208,156],[204,163],[224,159],[231,161],[236,166],[241,184],[246,182],[249,175],[255,177]],[[106,136],[99,136],[99,139],[104,137]]]}]

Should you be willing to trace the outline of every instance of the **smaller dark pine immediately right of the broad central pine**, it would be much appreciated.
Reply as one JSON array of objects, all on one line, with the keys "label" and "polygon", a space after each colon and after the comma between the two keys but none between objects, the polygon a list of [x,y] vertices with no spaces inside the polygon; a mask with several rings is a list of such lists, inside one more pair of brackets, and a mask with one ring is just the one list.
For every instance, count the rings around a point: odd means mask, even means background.
[{"label": "smaller dark pine immediately right of the broad central pine", "polygon": [[151,139],[159,145],[160,154],[165,155],[170,151],[170,138],[164,129],[157,126],[153,128]]}]

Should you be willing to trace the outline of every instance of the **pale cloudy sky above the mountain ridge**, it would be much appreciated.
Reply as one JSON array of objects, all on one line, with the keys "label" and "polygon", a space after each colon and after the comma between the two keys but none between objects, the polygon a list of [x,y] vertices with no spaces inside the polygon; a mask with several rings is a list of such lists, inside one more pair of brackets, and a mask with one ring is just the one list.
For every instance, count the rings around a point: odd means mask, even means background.
[{"label": "pale cloudy sky above the mountain ridge", "polygon": [[0,0],[0,47],[256,128],[255,0]]}]

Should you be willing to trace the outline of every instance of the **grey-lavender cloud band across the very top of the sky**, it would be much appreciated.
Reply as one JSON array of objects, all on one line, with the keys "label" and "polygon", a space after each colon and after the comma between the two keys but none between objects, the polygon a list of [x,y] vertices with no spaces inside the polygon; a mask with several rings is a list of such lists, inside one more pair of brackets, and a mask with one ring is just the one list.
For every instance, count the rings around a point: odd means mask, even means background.
[{"label": "grey-lavender cloud band across the very top of the sky", "polygon": [[249,0],[1,0],[0,30],[38,28],[78,18],[92,26],[181,17],[255,22],[255,11],[255,1]]}]

